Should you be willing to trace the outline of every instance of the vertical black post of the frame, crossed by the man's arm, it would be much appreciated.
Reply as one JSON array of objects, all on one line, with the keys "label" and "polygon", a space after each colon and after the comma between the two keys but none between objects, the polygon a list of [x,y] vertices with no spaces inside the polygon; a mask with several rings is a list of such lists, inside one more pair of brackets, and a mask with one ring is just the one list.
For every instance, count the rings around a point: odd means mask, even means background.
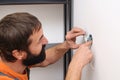
[{"label": "vertical black post of the frame, crossed by the man's arm", "polygon": [[[72,20],[71,20],[71,16],[72,16],[72,3],[71,0],[66,0],[66,4],[64,5],[64,18],[65,18],[65,35],[67,34],[68,31],[71,30],[71,25],[72,25]],[[64,56],[64,78],[66,76],[67,73],[67,69],[68,69],[68,65],[71,61],[71,55],[72,55],[72,51],[71,49],[68,50],[68,52],[65,54]]]}]

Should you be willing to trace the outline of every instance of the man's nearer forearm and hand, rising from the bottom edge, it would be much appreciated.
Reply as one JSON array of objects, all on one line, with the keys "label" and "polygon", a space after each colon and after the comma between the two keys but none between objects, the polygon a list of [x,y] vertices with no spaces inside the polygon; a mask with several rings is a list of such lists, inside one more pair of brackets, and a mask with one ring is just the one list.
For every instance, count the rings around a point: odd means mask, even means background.
[{"label": "man's nearer forearm and hand, rising from the bottom edge", "polygon": [[67,76],[65,80],[81,80],[81,73],[83,67],[88,64],[92,59],[92,52],[89,50],[91,42],[82,44],[70,62]]}]

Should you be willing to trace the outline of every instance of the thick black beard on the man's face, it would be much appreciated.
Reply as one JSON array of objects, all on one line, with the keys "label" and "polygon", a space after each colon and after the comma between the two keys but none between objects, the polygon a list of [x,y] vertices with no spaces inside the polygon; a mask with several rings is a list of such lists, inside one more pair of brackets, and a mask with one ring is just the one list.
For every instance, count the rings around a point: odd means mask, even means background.
[{"label": "thick black beard on the man's face", "polygon": [[42,46],[42,50],[39,53],[39,55],[32,54],[30,50],[26,50],[26,52],[27,52],[27,58],[23,60],[23,65],[25,66],[31,66],[37,63],[41,63],[46,58],[45,45]]}]

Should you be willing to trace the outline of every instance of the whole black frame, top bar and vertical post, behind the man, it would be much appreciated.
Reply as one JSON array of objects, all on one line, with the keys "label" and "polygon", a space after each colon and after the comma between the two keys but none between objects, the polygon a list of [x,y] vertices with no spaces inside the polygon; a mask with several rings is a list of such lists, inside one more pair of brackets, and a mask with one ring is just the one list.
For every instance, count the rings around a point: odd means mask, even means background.
[{"label": "whole black frame, top bar and vertical post, behind the man", "polygon": [[[64,4],[64,39],[66,33],[71,29],[71,0],[0,0],[0,5],[27,5],[27,4]],[[50,44],[52,45],[52,44]],[[53,44],[54,45],[54,44]],[[67,73],[68,65],[71,61],[72,51],[69,50],[64,55],[64,79]]]}]

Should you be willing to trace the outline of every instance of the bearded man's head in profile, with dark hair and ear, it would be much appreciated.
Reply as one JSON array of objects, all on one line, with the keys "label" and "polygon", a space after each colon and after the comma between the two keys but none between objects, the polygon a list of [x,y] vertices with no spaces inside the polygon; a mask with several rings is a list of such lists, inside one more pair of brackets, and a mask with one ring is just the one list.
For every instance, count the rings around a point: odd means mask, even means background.
[{"label": "bearded man's head in profile, with dark hair and ear", "polygon": [[7,62],[23,61],[26,66],[45,59],[40,21],[29,13],[13,13],[0,21],[0,56]]}]

